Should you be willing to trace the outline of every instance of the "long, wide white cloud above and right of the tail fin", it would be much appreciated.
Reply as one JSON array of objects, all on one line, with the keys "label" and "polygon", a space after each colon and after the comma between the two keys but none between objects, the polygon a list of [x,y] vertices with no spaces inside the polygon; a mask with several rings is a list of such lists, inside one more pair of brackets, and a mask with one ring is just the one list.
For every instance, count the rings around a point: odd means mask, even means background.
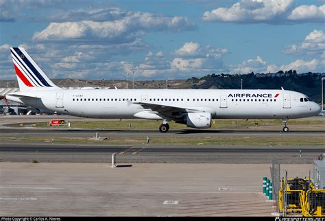
[{"label": "long, wide white cloud above and right of the tail fin", "polygon": [[181,32],[194,30],[195,24],[186,17],[158,16],[132,12],[114,21],[73,21],[50,23],[45,30],[34,33],[34,41],[49,40],[112,40],[130,42],[144,32]]}]

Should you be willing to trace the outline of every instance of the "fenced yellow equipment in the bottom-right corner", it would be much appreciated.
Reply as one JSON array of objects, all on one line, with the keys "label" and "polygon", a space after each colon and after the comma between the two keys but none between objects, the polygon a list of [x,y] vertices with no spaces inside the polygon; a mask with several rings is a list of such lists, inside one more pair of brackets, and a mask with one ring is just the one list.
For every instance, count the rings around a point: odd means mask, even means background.
[{"label": "fenced yellow equipment in the bottom-right corner", "polygon": [[[273,198],[276,202],[276,211],[282,213],[282,216],[287,216],[288,213],[302,216],[325,216],[325,189],[315,187],[315,180],[311,178],[311,170],[306,165],[297,166],[291,170],[290,173],[287,170],[281,171],[280,163],[272,161],[270,171],[274,185]],[[303,177],[303,174],[304,178],[298,177]],[[306,174],[309,174],[309,178],[306,178]],[[296,176],[296,178],[288,178],[288,176]]]}]

